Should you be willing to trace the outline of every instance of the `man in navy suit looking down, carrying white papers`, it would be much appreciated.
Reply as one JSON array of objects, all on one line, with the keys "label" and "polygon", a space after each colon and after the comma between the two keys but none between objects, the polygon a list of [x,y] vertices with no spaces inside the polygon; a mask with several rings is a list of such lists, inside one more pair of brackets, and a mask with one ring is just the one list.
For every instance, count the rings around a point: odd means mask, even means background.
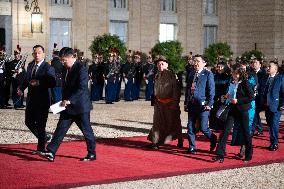
[{"label": "man in navy suit looking down, carrying white papers", "polygon": [[55,154],[65,137],[71,124],[75,122],[82,131],[86,143],[88,154],[81,161],[96,160],[95,136],[90,124],[90,111],[92,104],[88,90],[88,70],[74,57],[74,50],[64,47],[60,50],[59,56],[65,67],[63,76],[63,90],[61,106],[66,107],[62,111],[52,137],[47,145],[47,152],[40,155],[49,161],[54,161]]}]

